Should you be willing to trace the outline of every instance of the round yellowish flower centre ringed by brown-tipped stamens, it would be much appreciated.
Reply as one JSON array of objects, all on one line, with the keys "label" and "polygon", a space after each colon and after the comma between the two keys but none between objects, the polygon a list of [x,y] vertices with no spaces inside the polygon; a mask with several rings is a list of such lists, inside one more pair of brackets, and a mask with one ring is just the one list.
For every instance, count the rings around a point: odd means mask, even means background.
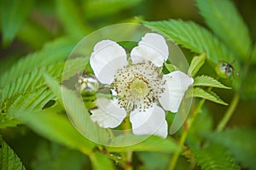
[{"label": "round yellowish flower centre ringed by brown-tipped stamens", "polygon": [[120,107],[126,111],[144,111],[163,93],[164,84],[159,68],[150,61],[143,61],[119,69],[114,77],[113,88]]}]

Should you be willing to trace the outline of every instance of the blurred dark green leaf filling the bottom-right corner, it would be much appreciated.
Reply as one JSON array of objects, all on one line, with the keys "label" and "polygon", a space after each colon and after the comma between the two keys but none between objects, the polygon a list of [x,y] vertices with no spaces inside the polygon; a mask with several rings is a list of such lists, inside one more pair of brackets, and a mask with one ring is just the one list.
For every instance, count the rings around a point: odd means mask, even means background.
[{"label": "blurred dark green leaf filling the bottom-right corner", "polygon": [[227,129],[224,132],[202,133],[211,142],[224,145],[232,153],[242,167],[255,169],[256,162],[256,130],[248,128]]}]

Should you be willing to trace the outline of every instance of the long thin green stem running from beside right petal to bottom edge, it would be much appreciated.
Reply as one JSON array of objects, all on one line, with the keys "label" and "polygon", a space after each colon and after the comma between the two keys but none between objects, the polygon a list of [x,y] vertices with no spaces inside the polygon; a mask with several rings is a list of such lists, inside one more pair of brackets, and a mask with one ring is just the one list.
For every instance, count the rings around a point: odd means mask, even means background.
[{"label": "long thin green stem running from beside right petal to bottom edge", "polygon": [[191,117],[189,118],[189,120],[187,120],[186,122],[184,122],[184,126],[183,126],[183,133],[181,135],[181,138],[178,141],[179,144],[179,150],[177,150],[174,155],[172,156],[172,160],[170,162],[169,165],[169,170],[173,170],[174,167],[177,164],[177,159],[179,157],[179,155],[181,154],[182,150],[183,150],[183,145],[187,139],[188,133],[189,133],[189,128],[191,127],[191,125],[193,124],[193,122],[195,121],[195,117],[198,115],[199,111],[201,111],[201,107],[204,105],[206,99],[201,99],[199,105],[197,105],[197,107],[195,108],[195,110],[192,112]]}]

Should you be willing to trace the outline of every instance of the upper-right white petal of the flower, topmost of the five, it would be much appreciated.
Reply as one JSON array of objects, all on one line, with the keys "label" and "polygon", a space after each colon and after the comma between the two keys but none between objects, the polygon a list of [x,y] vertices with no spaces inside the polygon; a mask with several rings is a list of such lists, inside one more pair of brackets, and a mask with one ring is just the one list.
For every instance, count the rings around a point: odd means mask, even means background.
[{"label": "upper-right white petal of the flower, topmost of the five", "polygon": [[162,66],[168,59],[169,51],[164,37],[155,33],[147,33],[138,46],[131,50],[134,64],[149,60],[156,66]]}]

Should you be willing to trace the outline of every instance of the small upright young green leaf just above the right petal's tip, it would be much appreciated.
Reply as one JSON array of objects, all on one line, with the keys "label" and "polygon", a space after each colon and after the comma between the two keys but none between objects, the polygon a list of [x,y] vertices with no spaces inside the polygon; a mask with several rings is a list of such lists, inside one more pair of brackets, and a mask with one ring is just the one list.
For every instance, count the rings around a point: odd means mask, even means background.
[{"label": "small upright young green leaf just above the right petal's tip", "polygon": [[192,61],[191,64],[189,66],[189,71],[188,71],[188,75],[190,77],[194,77],[195,74],[199,71],[199,69],[201,68],[202,65],[204,65],[206,60],[206,54],[201,54],[199,56],[195,56]]}]

